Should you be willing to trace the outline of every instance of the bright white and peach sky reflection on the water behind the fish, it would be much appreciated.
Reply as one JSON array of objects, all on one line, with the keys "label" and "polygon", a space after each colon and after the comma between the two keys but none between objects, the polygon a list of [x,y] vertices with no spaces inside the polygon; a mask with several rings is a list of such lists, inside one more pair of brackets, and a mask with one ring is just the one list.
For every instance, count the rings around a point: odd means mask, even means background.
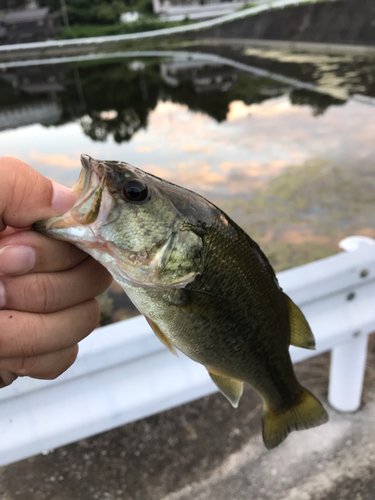
[{"label": "bright white and peach sky reflection on the water behind the fish", "polygon": [[82,152],[123,160],[211,198],[248,198],[285,167],[310,159],[338,164],[375,162],[375,107],[349,101],[314,117],[287,96],[262,104],[230,104],[217,123],[187,106],[159,101],[148,126],[130,142],[93,142],[79,122],[31,125],[0,134],[2,151],[53,180],[71,186]]}]

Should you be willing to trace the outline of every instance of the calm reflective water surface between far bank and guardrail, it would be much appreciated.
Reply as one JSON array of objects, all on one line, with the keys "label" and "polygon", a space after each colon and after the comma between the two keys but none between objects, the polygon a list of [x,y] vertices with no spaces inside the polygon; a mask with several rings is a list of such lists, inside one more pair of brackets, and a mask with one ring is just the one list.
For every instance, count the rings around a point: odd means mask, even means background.
[{"label": "calm reflective water surface between far bank and guardrail", "polygon": [[136,165],[219,204],[276,269],[375,237],[372,59],[210,51],[3,67],[2,154],[68,186],[81,153]]}]

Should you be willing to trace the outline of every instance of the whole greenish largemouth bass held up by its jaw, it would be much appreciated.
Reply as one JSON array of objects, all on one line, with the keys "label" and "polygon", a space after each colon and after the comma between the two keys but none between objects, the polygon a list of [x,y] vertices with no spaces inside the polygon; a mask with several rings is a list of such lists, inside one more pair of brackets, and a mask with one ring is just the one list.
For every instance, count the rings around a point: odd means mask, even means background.
[{"label": "whole greenish largemouth bass held up by its jaw", "polygon": [[125,162],[81,163],[76,204],[34,229],[106,267],[159,340],[204,365],[233,407],[251,385],[268,449],[327,422],[289,354],[290,345],[314,349],[313,333],[258,244],[193,191]]}]

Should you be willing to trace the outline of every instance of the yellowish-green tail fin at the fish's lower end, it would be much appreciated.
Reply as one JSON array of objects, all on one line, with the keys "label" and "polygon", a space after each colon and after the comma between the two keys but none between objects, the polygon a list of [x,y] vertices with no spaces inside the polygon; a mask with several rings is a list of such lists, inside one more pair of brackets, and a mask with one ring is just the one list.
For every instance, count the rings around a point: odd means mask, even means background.
[{"label": "yellowish-green tail fin at the fish's lower end", "polygon": [[310,429],[328,421],[320,401],[304,387],[298,403],[286,410],[270,410],[265,405],[263,441],[269,450],[278,446],[294,430]]}]

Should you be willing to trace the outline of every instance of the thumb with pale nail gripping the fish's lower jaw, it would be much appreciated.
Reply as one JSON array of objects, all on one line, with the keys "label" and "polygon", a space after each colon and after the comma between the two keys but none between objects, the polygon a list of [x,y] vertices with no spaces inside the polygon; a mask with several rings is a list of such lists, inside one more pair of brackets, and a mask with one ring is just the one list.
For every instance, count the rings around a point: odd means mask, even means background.
[{"label": "thumb with pale nail gripping the fish's lower jaw", "polygon": [[68,211],[77,194],[16,158],[0,158],[0,231],[24,228]]}]

